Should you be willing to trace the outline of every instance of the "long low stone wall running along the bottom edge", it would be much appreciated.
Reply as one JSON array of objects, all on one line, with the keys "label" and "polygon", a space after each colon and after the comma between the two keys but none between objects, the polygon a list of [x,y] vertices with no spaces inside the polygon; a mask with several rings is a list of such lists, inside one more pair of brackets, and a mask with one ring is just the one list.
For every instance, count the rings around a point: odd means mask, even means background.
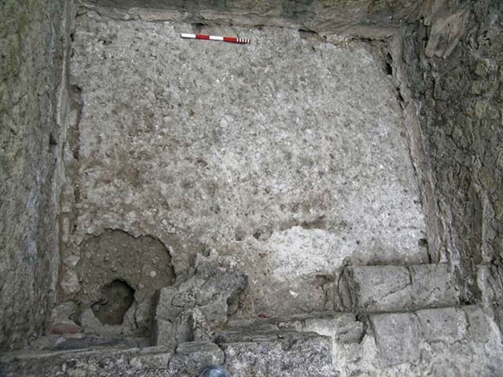
[{"label": "long low stone wall running along the bottom edge", "polygon": [[193,376],[209,363],[232,377],[503,375],[498,328],[478,306],[316,313],[232,321],[213,342],[176,349],[94,348],[0,355],[7,376]]}]

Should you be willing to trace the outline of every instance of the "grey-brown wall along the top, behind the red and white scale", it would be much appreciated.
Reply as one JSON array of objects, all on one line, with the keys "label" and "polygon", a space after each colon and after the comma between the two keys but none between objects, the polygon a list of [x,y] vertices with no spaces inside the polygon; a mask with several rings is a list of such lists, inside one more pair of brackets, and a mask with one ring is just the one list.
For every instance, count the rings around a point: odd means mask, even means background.
[{"label": "grey-brown wall along the top, behind the red and white scale", "polygon": [[[358,37],[389,37],[394,28],[418,20],[438,7],[436,0],[85,0],[82,4],[114,19],[179,21],[199,24],[279,26],[344,33]],[[336,37],[337,38],[337,37]]]}]

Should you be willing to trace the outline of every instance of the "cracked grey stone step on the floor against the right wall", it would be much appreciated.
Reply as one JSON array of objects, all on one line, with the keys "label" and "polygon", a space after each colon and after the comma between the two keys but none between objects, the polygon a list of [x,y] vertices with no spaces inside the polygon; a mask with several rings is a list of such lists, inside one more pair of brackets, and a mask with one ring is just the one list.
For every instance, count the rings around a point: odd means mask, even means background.
[{"label": "cracked grey stone step on the floor against the right wall", "polygon": [[348,266],[337,287],[344,310],[388,312],[454,306],[459,295],[447,264]]}]

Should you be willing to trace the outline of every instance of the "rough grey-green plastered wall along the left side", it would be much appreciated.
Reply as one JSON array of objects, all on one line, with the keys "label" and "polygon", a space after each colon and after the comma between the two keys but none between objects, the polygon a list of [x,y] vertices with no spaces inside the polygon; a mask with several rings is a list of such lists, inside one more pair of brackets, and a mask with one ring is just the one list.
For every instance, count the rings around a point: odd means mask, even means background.
[{"label": "rough grey-green plastered wall along the left side", "polygon": [[0,3],[0,350],[40,335],[54,300],[71,4]]}]

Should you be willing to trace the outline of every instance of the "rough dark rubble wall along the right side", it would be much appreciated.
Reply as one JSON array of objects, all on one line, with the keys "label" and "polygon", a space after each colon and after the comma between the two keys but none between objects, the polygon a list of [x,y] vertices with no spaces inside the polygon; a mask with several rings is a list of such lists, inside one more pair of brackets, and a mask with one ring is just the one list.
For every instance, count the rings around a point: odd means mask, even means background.
[{"label": "rough dark rubble wall along the right side", "polygon": [[472,301],[480,299],[477,265],[503,252],[503,4],[458,3],[407,31],[404,60],[421,104],[443,246]]}]

